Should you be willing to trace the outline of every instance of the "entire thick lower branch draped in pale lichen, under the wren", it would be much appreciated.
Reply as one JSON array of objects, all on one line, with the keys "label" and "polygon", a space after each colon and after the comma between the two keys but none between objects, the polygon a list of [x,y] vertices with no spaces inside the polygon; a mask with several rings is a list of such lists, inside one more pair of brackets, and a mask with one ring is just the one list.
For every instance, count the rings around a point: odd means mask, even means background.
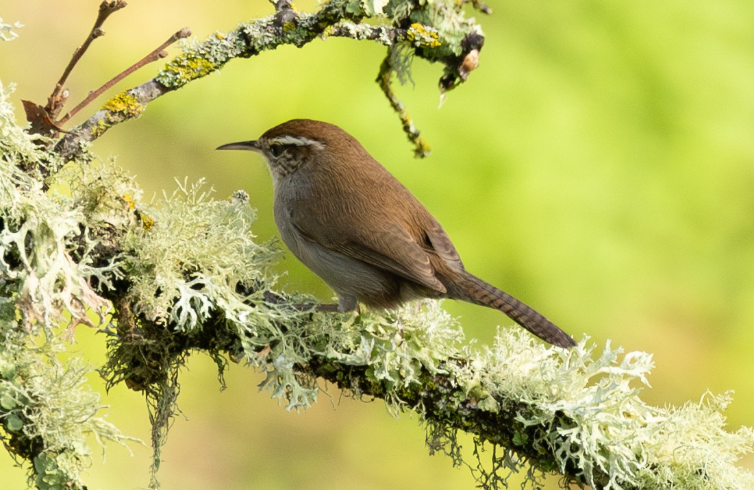
[{"label": "entire thick lower branch draped in pale lichen, under the wren", "polygon": [[[384,399],[394,414],[414,411],[431,451],[454,464],[480,458],[469,465],[483,488],[501,488],[506,472],[521,469],[532,486],[546,473],[593,488],[754,485],[736,466],[754,431],[726,430],[729,397],[646,404],[645,353],[609,344],[598,352],[587,341],[559,350],[518,328],[472,350],[434,301],[394,312],[307,310],[310,297],[277,291],[268,269],[277,251],[254,239],[245,193],[216,200],[184,182],[146,205],[121,169],[91,163],[54,174],[71,189],[63,198],[45,192],[44,172],[21,171],[60,162],[14,125],[5,93],[0,116],[0,423],[39,488],[84,488],[87,433],[125,440],[97,416],[85,369],[55,360],[81,322],[107,335],[106,383],[145,393],[153,488],[179,368],[198,352],[215,360],[221,379],[230,362],[264,372],[264,386],[289,409],[316,402],[322,379]],[[461,451],[459,431],[495,448],[485,453],[492,458]]]}]

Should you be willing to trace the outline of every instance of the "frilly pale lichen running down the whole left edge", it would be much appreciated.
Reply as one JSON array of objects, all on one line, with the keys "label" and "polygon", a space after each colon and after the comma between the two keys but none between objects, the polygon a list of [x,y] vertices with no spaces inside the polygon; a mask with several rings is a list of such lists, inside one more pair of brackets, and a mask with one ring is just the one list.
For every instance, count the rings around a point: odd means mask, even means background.
[{"label": "frilly pale lichen running down the whole left edge", "polygon": [[[103,322],[89,314],[106,307],[89,281],[106,279],[112,263],[92,262],[97,244],[75,201],[45,192],[41,174],[20,170],[62,165],[38,138],[15,124],[0,85],[0,421],[5,448],[33,462],[30,484],[84,488],[87,437],[127,438],[97,415],[99,395],[85,384],[92,368],[58,356],[75,325]],[[84,244],[77,257],[75,239]]]}]

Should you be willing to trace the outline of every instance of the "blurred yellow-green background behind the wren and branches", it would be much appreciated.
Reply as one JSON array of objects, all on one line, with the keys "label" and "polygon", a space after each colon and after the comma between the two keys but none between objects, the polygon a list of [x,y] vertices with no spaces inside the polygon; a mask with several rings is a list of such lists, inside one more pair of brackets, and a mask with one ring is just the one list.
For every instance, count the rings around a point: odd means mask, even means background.
[{"label": "blurred yellow-green background behind the wren and branches", "polygon": [[[20,99],[45,102],[98,4],[3,2],[3,20],[25,24],[19,39],[0,44],[0,79],[17,82],[19,122]],[[470,271],[577,338],[653,353],[648,402],[677,405],[706,390],[735,390],[731,430],[754,424],[754,3],[489,5],[495,14],[480,14],[480,69],[441,109],[440,66],[418,60],[415,86],[397,88],[431,143],[428,159],[412,159],[373,82],[385,48],[344,39],[234,60],[151,103],[94,149],[117,156],[148,199],[173,190],[173,177],[206,177],[219,199],[243,187],[266,240],[277,232],[265,165],[250,153],[213,149],[294,117],[336,123],[427,205]],[[262,0],[134,0],[75,70],[70,106],[183,26],[201,39],[269,13]],[[286,288],[332,296],[291,257],[278,269],[290,271]],[[483,344],[495,325],[510,325],[493,310],[445,306]],[[103,337],[80,328],[77,338],[75,349],[95,365],[103,361]],[[164,448],[163,488],[474,488],[469,470],[428,456],[415,417],[395,420],[382,402],[340,399],[333,387],[332,399],[288,413],[258,393],[259,381],[234,365],[220,393],[212,363],[190,359],[183,414]],[[139,393],[116,387],[103,403],[110,421],[149,440]],[[133,453],[110,445],[103,462],[96,452],[87,484],[146,488],[151,451],[133,446]],[[754,468],[754,458],[743,464]],[[8,456],[0,455],[0,481],[25,485]]]}]

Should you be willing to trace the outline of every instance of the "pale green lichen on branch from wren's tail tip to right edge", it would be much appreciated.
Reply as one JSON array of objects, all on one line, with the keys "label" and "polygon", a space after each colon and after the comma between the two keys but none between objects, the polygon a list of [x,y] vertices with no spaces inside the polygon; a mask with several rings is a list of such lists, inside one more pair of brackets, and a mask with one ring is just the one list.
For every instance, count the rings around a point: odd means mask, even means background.
[{"label": "pale green lichen on branch from wren's tail tip to right edge", "polygon": [[[478,408],[516,410],[514,445],[550,448],[553,470],[575,468],[572,474],[592,488],[752,488],[754,475],[735,462],[752,451],[754,431],[726,430],[728,394],[707,394],[681,408],[653,407],[639,397],[650,355],[622,356],[608,343],[593,359],[594,350],[584,341],[574,350],[554,350],[520,331],[501,331],[493,347],[467,353],[474,361],[453,374],[469,393],[481,394]],[[483,404],[485,397],[494,402]],[[498,461],[500,469],[518,465]],[[595,479],[598,473],[607,479]]]}]

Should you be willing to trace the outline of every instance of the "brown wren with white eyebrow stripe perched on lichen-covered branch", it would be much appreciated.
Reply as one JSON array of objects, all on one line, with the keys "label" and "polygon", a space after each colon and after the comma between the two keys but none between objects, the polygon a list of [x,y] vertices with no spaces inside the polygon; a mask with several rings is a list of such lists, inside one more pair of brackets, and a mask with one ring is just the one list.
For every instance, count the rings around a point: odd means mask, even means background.
[{"label": "brown wren with white eyebrow stripe perched on lichen-covered branch", "polygon": [[440,223],[350,134],[335,125],[294,119],[250,149],[267,159],[280,236],[339,296],[338,311],[357,301],[392,308],[421,297],[449,297],[501,310],[544,341],[575,342],[510,294],[472,276]]}]

